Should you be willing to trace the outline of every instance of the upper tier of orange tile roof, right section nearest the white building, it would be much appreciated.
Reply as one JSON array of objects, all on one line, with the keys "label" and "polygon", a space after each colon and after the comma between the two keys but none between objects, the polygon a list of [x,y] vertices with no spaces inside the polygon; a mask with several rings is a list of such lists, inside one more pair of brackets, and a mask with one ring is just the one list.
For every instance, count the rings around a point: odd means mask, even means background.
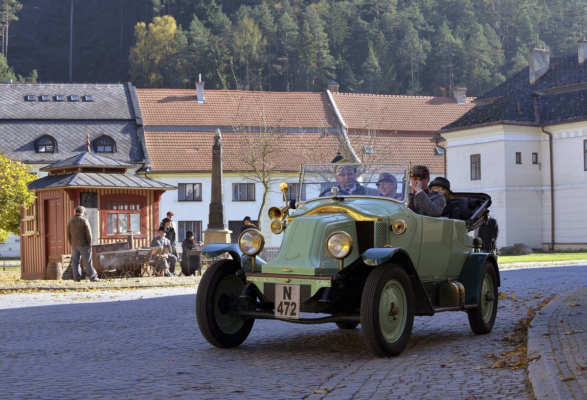
[{"label": "upper tier of orange tile roof, right section nearest the white building", "polygon": [[389,96],[332,93],[349,130],[432,133],[472,109],[474,97],[457,104],[454,97]]}]

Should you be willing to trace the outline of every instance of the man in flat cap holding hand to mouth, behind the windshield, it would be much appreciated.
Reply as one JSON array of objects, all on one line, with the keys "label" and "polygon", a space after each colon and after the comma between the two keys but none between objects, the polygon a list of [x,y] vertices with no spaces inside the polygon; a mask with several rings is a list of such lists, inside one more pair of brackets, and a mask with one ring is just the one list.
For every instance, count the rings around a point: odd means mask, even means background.
[{"label": "man in flat cap holding hand to mouth, behind the windshield", "polygon": [[431,191],[430,170],[426,165],[414,165],[410,169],[411,192],[408,195],[408,207],[426,216],[440,216],[446,205],[443,194]]}]

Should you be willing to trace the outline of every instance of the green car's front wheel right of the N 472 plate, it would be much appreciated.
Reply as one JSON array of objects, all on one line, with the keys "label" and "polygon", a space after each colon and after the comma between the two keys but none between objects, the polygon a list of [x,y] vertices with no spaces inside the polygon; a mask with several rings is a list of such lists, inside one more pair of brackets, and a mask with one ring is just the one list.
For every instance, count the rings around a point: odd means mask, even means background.
[{"label": "green car's front wheel right of the N 472 plate", "polygon": [[367,348],[380,357],[400,354],[414,324],[414,292],[399,265],[375,267],[361,301],[361,326]]}]

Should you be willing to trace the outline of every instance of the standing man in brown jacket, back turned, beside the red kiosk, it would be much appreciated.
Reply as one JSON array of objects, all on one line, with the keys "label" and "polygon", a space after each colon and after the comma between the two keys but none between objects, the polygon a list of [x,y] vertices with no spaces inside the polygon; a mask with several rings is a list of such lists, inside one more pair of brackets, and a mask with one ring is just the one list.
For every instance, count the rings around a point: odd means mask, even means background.
[{"label": "standing man in brown jacket, back turned, beside the red kiosk", "polygon": [[75,215],[68,223],[68,242],[72,246],[72,273],[73,280],[80,282],[82,280],[82,269],[80,261],[83,260],[83,266],[86,268],[86,276],[92,282],[98,282],[98,273],[92,265],[92,230],[90,223],[83,214],[86,208],[77,206]]}]

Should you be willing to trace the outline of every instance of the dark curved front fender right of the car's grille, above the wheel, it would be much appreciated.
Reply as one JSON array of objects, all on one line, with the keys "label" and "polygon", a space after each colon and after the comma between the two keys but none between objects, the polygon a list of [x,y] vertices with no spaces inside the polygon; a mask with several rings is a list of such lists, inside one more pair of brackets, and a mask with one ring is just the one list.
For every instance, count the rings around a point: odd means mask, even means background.
[{"label": "dark curved front fender right of the car's grille, above the wheel", "polygon": [[430,302],[424,284],[420,280],[414,263],[410,256],[402,248],[374,248],[363,253],[363,262],[366,265],[382,265],[394,263],[401,266],[410,279],[411,287],[414,290],[414,314],[417,316],[433,316],[434,307]]}]

